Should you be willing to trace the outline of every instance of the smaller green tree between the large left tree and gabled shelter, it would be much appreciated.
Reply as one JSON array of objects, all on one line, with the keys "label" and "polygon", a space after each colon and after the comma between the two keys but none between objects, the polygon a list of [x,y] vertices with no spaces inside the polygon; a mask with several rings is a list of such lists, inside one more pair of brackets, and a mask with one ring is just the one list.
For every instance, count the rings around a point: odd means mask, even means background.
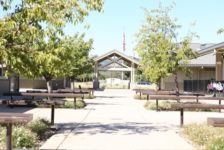
[{"label": "smaller green tree between the large left tree and gabled shelter", "polygon": [[[63,69],[64,76],[69,77],[71,82],[84,74],[88,74],[93,71],[94,60],[89,57],[89,52],[92,49],[92,40],[85,41],[84,35],[68,37],[63,47],[69,50],[69,61],[63,63],[61,69]],[[74,84],[72,86],[74,88]]]}]

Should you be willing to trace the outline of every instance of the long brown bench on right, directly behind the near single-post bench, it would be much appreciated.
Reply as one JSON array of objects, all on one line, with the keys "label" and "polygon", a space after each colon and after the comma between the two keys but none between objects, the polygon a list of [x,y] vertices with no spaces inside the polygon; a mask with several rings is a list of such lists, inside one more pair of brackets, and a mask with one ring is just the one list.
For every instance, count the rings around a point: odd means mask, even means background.
[{"label": "long brown bench on right, directly behind the near single-post bench", "polygon": [[[224,97],[206,97],[206,96],[198,96],[198,95],[149,95],[149,100],[156,100],[156,110],[159,110],[159,100],[175,100],[175,101],[181,101],[181,100],[196,100],[199,102],[199,100],[218,100],[219,105],[221,105],[221,101],[224,100]],[[221,110],[220,110],[221,111]]]}]

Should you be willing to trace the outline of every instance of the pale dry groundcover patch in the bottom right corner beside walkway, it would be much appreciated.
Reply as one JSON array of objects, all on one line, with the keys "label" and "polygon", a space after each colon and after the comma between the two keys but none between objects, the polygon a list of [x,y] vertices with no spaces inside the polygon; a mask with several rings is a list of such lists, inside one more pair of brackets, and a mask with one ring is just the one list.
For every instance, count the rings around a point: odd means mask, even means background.
[{"label": "pale dry groundcover patch in the bottom right corner beside walkway", "polygon": [[224,128],[206,124],[190,124],[184,126],[181,133],[196,145],[206,150],[224,149]]}]

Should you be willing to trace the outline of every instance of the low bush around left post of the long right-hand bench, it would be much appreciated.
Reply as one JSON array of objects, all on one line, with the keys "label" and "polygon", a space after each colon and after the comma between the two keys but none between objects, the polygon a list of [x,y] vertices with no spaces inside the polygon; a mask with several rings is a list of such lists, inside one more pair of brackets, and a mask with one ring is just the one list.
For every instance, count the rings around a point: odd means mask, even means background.
[{"label": "low bush around left post of the long right-hand bench", "polygon": [[[156,110],[156,103],[146,102],[145,108],[147,110]],[[159,110],[171,110],[171,102],[163,101],[159,103]]]}]

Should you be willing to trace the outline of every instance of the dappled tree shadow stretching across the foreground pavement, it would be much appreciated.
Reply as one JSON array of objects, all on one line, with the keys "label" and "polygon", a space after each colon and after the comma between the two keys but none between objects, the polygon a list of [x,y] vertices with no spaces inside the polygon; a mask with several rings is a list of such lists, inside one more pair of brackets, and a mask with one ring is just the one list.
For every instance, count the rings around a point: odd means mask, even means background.
[{"label": "dappled tree shadow stretching across the foreground pavement", "polygon": [[166,132],[173,129],[177,129],[176,125],[162,125],[162,124],[151,124],[151,123],[141,123],[141,122],[125,122],[125,123],[71,123],[71,124],[61,124],[61,129],[59,132],[67,132],[72,130],[72,134],[120,134],[120,135],[131,135],[131,134],[141,134],[147,135],[151,132],[161,131]]}]

